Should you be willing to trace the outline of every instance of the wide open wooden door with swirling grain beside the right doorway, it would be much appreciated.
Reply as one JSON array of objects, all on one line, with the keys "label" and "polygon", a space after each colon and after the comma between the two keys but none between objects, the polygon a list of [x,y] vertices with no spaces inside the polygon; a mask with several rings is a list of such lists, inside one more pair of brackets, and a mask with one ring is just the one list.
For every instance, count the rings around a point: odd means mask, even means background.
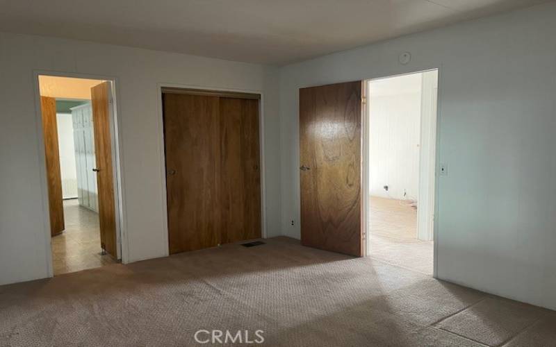
[{"label": "wide open wooden door with swirling grain beside the right doorway", "polygon": [[361,256],[361,81],[300,89],[301,241]]}]

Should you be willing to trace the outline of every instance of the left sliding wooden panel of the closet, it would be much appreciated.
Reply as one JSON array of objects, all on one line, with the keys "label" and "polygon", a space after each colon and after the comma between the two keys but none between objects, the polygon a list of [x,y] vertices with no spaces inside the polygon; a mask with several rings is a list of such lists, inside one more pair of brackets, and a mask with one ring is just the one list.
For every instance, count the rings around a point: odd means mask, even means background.
[{"label": "left sliding wooden panel of the closet", "polygon": [[163,94],[170,253],[220,244],[216,96]]}]

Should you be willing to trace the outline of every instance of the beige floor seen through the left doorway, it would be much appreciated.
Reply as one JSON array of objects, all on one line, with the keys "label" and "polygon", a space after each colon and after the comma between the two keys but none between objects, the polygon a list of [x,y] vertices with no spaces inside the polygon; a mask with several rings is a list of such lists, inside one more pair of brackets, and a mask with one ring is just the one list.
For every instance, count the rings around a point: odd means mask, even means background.
[{"label": "beige floor seen through the left doorway", "polygon": [[116,263],[110,255],[100,255],[99,214],[77,199],[65,200],[64,222],[64,232],[51,239],[54,276]]}]

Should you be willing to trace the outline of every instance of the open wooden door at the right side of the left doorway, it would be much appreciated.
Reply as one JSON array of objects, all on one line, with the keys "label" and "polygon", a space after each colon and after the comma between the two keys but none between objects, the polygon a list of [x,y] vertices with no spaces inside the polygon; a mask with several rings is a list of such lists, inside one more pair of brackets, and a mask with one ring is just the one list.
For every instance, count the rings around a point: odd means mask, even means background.
[{"label": "open wooden door at the right side of the left doorway", "polygon": [[99,203],[100,243],[106,253],[117,258],[114,179],[111,137],[111,83],[91,88],[92,122],[95,133],[95,156]]}]

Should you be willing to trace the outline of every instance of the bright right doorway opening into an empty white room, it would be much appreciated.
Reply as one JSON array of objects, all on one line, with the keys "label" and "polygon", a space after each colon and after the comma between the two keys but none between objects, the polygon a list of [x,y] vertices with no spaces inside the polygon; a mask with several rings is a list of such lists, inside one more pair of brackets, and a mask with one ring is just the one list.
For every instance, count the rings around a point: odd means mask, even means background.
[{"label": "bright right doorway opening into an empty white room", "polygon": [[438,70],[366,81],[367,254],[434,275]]}]

